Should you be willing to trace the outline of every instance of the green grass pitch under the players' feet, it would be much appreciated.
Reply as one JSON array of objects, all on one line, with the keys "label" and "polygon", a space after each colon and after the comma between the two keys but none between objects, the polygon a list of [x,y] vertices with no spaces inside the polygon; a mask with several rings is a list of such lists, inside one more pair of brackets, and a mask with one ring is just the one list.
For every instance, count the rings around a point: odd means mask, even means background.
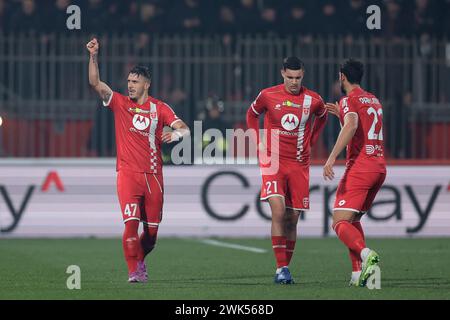
[{"label": "green grass pitch under the players' feet", "polygon": [[[150,281],[129,284],[119,239],[1,239],[0,299],[450,298],[450,239],[368,239],[381,257],[380,290],[347,287],[350,262],[335,238],[299,239],[291,286],[272,283],[268,239],[219,240],[267,252],[161,238],[147,257]],[[66,288],[69,265],[81,268],[81,290]]]}]

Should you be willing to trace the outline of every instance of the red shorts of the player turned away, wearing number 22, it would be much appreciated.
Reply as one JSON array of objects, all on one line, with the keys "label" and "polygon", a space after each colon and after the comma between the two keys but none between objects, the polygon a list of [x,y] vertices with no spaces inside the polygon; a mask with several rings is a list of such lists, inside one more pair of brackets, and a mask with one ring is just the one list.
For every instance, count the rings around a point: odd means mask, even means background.
[{"label": "red shorts of the player turned away, wearing number 22", "polygon": [[333,211],[369,211],[385,178],[386,173],[345,171],[336,191]]}]

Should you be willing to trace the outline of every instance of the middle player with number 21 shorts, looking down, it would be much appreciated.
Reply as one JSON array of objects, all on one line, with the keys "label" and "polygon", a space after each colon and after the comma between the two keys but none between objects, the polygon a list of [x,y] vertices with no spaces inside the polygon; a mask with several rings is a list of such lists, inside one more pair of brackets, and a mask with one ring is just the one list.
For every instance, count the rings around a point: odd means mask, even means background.
[{"label": "middle player with number 21 shorts, looking down", "polygon": [[[272,211],[272,247],[277,264],[274,282],[282,284],[293,283],[288,266],[294,253],[299,215],[309,209],[310,147],[327,119],[322,98],[302,86],[304,74],[300,59],[284,59],[284,83],[262,90],[247,111],[247,126],[256,132],[260,152],[260,199],[268,201]],[[263,113],[265,142],[260,142],[258,118]],[[273,146],[273,141],[278,143]],[[263,152],[267,153],[267,161],[261,159]]]}]

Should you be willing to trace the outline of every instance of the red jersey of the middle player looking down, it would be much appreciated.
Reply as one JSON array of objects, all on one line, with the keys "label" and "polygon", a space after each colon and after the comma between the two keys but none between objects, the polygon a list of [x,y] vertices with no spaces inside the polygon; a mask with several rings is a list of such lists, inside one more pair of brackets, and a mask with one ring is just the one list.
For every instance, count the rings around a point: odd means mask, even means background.
[{"label": "red jersey of the middle player looking down", "polygon": [[[326,114],[320,95],[305,87],[294,95],[281,84],[262,90],[251,109],[256,115],[265,113],[264,138],[269,155],[309,163],[312,115]],[[270,137],[278,139],[279,150],[272,148]]]}]

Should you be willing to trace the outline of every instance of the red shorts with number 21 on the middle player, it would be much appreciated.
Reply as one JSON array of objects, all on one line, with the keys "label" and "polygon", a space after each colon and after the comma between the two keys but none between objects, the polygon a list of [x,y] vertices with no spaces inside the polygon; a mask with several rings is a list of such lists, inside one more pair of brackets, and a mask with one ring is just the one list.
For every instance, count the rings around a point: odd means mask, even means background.
[{"label": "red shorts with number 21 on the middle player", "polygon": [[294,160],[280,159],[276,174],[264,174],[261,167],[262,187],[261,200],[270,197],[284,198],[286,208],[309,210],[309,165]]}]

